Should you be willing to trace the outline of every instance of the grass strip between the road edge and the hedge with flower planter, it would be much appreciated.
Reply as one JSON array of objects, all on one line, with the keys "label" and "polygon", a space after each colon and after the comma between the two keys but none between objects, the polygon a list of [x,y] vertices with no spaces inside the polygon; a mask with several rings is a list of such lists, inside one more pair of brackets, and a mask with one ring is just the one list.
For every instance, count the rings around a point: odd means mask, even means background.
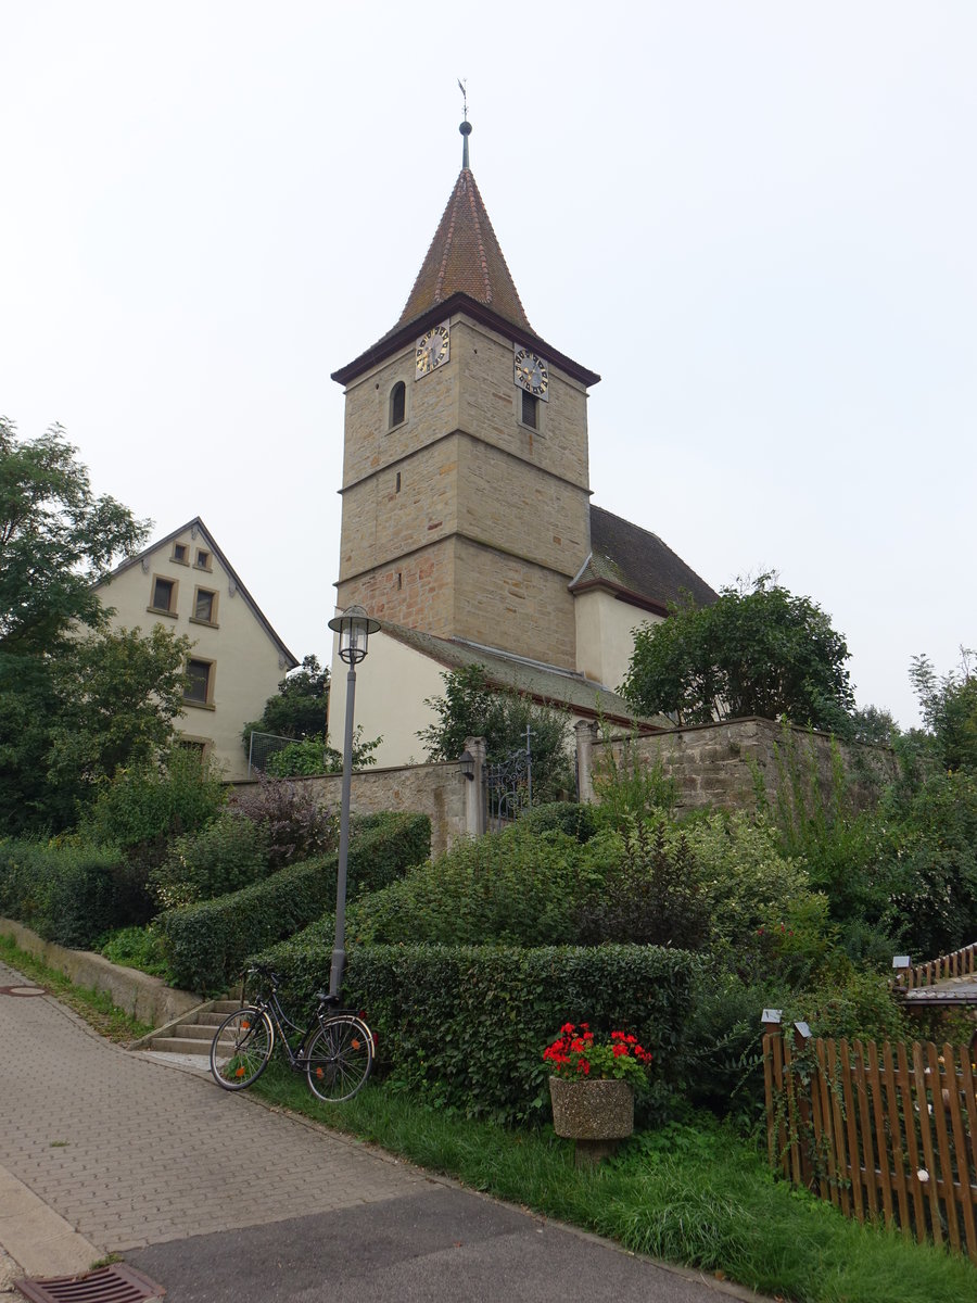
[{"label": "grass strip between the road edge and the hedge with flower planter", "polygon": [[369,1085],[348,1104],[315,1100],[270,1066],[255,1092],[382,1145],[473,1190],[524,1204],[627,1248],[799,1303],[933,1303],[977,1298],[977,1268],[775,1181],[756,1147],[711,1118],[670,1123],[594,1170],[551,1131],[505,1130]]}]

